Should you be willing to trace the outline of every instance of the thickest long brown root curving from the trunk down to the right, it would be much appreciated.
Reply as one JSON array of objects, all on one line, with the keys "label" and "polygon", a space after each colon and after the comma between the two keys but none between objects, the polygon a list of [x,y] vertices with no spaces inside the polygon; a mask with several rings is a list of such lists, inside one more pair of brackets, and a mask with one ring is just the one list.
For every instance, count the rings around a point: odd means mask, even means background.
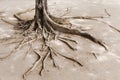
[{"label": "thickest long brown root curving from the trunk down to the right", "polygon": [[[73,35],[78,35],[78,36],[82,36],[86,39],[89,39],[91,40],[92,42],[94,43],[97,43],[99,44],[100,46],[104,47],[105,50],[108,50],[107,47],[103,44],[103,42],[101,42],[100,40],[94,38],[92,35],[90,35],[89,33],[84,33],[84,32],[81,32],[79,30],[76,30],[76,29],[69,29],[69,28],[66,28],[64,25],[61,25],[61,24],[58,24],[56,23],[55,21],[53,21],[50,17],[49,17],[49,13],[47,12],[47,6],[45,5],[45,2],[43,1],[44,3],[44,23],[47,24],[49,23],[50,27],[52,27],[53,30],[55,31],[58,31],[58,32],[62,32],[62,33],[66,33],[66,34],[73,34]],[[46,26],[45,26],[46,27]],[[46,27],[47,28],[47,27]],[[47,28],[48,29],[48,28]]]}]

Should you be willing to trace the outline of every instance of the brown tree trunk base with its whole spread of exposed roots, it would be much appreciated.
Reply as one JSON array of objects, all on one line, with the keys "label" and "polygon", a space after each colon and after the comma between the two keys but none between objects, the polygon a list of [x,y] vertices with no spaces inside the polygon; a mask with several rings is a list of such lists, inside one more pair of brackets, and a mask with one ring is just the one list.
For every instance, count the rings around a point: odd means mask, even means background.
[{"label": "brown tree trunk base with its whole spread of exposed roots", "polygon": [[[66,27],[66,26],[71,26],[72,27],[71,23],[69,22],[69,19],[89,19],[89,20],[96,20],[96,21],[98,21],[98,19],[96,19],[96,18],[104,18],[104,17],[96,16],[96,17],[66,17],[66,18],[57,18],[57,17],[52,16],[48,12],[48,10],[47,10],[47,0],[36,0],[34,19],[23,20],[23,19],[20,18],[21,14],[26,13],[26,12],[31,11],[31,10],[33,10],[33,9],[29,9],[27,11],[20,12],[20,13],[17,13],[17,14],[14,15],[14,17],[18,20],[18,23],[17,24],[13,24],[13,25],[15,26],[15,28],[17,27],[17,29],[22,29],[23,30],[24,39],[22,41],[20,41],[20,43],[16,46],[16,48],[9,55],[0,58],[0,59],[6,59],[7,57],[9,57],[13,53],[15,53],[18,49],[20,49],[20,47],[22,47],[23,45],[26,45],[28,43],[30,43],[30,45],[31,45],[31,43],[33,41],[38,40],[37,38],[34,38],[32,40],[27,40],[26,41],[26,38],[28,38],[28,36],[31,33],[35,32],[37,35],[40,35],[41,38],[42,38],[42,41],[43,41],[43,47],[42,47],[42,51],[41,52],[45,52],[46,54],[41,55],[41,53],[38,53],[36,50],[34,50],[32,48],[32,46],[30,47],[31,50],[35,54],[38,55],[38,59],[34,62],[33,66],[31,66],[24,73],[24,75],[23,75],[23,79],[24,80],[26,80],[27,74],[32,72],[38,65],[41,65],[40,75],[42,75],[42,71],[45,68],[45,62],[48,59],[48,57],[53,61],[53,66],[54,67],[58,67],[58,65],[56,64],[55,59],[54,59],[54,57],[58,56],[58,55],[61,56],[61,57],[66,58],[67,60],[70,60],[72,62],[77,63],[80,67],[83,67],[83,64],[80,63],[79,61],[77,61],[76,59],[68,57],[68,56],[65,56],[65,55],[55,51],[48,44],[51,40],[57,39],[57,40],[60,40],[61,42],[65,43],[70,49],[76,50],[72,45],[69,44],[69,42],[77,44],[77,42],[75,40],[72,40],[72,39],[69,39],[69,38],[60,37],[58,33],[65,33],[65,34],[81,36],[81,37],[83,37],[85,39],[88,39],[88,40],[92,41],[95,44],[98,44],[98,45],[102,46],[106,51],[108,51],[108,48],[105,45],[105,43],[102,42],[101,40],[95,38],[91,34],[85,33],[84,31],[81,31],[81,30],[70,29],[69,27]],[[105,11],[105,12],[106,12],[106,14],[108,16],[110,16],[110,14],[107,11]],[[105,22],[102,22],[102,23],[107,24]],[[107,25],[109,27],[113,28],[114,30],[119,31],[118,29],[114,28],[113,26],[111,26],[109,24],[107,24]]]}]

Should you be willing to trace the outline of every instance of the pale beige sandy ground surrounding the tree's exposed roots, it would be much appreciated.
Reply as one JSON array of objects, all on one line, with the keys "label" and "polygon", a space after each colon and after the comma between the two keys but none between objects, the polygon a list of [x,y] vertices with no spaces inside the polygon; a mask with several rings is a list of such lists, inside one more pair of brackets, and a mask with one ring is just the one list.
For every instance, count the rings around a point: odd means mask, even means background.
[{"label": "pale beige sandy ground surrounding the tree's exposed roots", "polygon": [[[48,4],[51,14],[58,17],[106,16],[104,13],[104,9],[106,9],[111,16],[102,20],[120,29],[119,0],[74,0],[74,2],[72,0],[48,0]],[[34,0],[0,0],[0,18],[15,23],[16,19],[12,16],[14,13],[33,7]],[[69,13],[64,15],[67,8]],[[21,15],[27,20],[33,16],[34,12]],[[120,33],[97,21],[71,19],[70,22],[78,29],[82,29],[105,42],[108,51],[83,37],[62,34],[62,37],[78,42],[78,44],[71,43],[77,49],[76,51],[71,50],[59,40],[52,40],[49,45],[59,53],[76,59],[83,64],[83,67],[61,56],[55,56],[55,62],[59,68],[54,68],[52,61],[48,58],[42,76],[39,76],[39,66],[37,66],[33,72],[27,75],[27,80],[120,80]],[[14,34],[16,31],[13,29],[13,25],[0,20],[0,39],[16,37],[16,39],[0,41],[0,57],[9,54],[19,44],[22,36]],[[14,40],[17,40],[16,43],[10,44]],[[32,46],[38,50],[41,47],[41,42],[35,41]],[[0,80],[22,80],[22,75],[33,65],[36,59],[37,55],[29,49],[29,44],[21,47],[9,58],[0,61]]]}]

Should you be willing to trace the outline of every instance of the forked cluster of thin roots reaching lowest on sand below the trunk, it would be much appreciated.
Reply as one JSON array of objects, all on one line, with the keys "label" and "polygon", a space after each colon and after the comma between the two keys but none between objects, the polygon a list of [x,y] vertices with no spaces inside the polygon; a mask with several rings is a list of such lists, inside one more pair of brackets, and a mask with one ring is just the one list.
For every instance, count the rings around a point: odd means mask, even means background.
[{"label": "forked cluster of thin roots reaching lowest on sand below the trunk", "polygon": [[40,53],[36,52],[35,50],[33,50],[33,52],[35,54],[38,55],[38,59],[34,62],[33,66],[30,67],[24,74],[23,74],[23,79],[26,80],[26,76],[27,74],[29,74],[30,72],[32,72],[38,65],[41,64],[41,69],[39,71],[39,74],[40,76],[42,76],[42,72],[43,70],[45,69],[45,61],[47,60],[47,58],[50,57],[50,59],[53,61],[53,66],[55,68],[59,68],[59,66],[56,64],[55,62],[55,59],[54,59],[54,56],[57,56],[57,55],[60,55],[62,57],[64,57],[65,59],[67,60],[70,60],[72,62],[75,62],[76,64],[78,64],[79,66],[83,67],[83,64],[81,64],[79,61],[73,59],[73,58],[70,58],[70,57],[67,57],[65,55],[62,55],[58,52],[56,52],[53,48],[51,48],[50,46],[46,46],[47,47],[47,53],[44,55],[44,56],[41,56]]}]

